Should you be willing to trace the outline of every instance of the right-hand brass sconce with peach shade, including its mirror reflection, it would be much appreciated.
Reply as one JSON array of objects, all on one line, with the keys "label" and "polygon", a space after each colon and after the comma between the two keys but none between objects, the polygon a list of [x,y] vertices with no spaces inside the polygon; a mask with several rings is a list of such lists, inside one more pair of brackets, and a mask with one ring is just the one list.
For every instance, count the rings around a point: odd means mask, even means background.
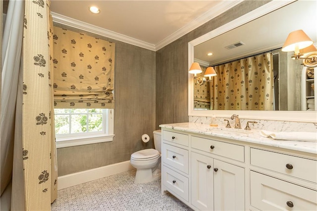
[{"label": "right-hand brass sconce with peach shade, including its mirror reflection", "polygon": [[[317,67],[317,49],[308,35],[303,30],[289,33],[283,47],[283,52],[294,51],[293,59],[303,59],[307,67]],[[304,56],[304,57],[303,57]]]}]

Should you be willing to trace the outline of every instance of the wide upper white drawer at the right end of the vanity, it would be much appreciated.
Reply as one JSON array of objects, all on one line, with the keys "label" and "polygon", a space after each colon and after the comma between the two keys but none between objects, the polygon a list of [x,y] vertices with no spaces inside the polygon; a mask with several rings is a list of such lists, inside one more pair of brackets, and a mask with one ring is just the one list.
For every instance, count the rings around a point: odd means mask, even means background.
[{"label": "wide upper white drawer at the right end of the vanity", "polygon": [[251,148],[251,164],[317,183],[317,161]]}]

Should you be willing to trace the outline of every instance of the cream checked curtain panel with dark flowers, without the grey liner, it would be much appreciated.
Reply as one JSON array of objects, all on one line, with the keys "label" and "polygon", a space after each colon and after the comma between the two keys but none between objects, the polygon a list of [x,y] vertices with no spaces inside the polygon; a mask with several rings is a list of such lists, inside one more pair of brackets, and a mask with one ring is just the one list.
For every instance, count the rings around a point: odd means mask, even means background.
[{"label": "cream checked curtain panel with dark flowers, without the grey liner", "polygon": [[22,145],[25,210],[30,211],[51,210],[57,195],[49,7],[50,1],[25,1]]}]

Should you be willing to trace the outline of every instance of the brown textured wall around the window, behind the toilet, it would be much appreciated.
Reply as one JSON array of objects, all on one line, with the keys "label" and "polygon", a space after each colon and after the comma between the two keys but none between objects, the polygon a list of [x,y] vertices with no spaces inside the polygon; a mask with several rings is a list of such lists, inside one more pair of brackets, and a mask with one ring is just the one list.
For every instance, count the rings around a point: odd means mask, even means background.
[{"label": "brown textured wall around the window, behind the toilet", "polygon": [[143,148],[144,133],[151,138],[147,148],[154,146],[155,52],[103,39],[115,43],[115,136],[112,142],[57,149],[58,176],[129,160],[133,152]]}]

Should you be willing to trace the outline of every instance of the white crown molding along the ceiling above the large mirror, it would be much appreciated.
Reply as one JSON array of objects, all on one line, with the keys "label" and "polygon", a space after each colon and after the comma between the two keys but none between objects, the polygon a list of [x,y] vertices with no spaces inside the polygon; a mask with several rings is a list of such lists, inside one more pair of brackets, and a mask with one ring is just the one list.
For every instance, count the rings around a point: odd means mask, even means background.
[{"label": "white crown molding along the ceiling above the large mirror", "polygon": [[194,29],[200,27],[201,25],[207,23],[211,19],[217,17],[218,15],[222,14],[223,12],[229,10],[230,8],[238,5],[243,0],[224,0],[221,3],[217,4],[216,6],[209,9],[207,12],[205,12],[203,15],[199,16],[195,20],[191,21],[189,24],[183,26],[173,34],[169,35],[162,41],[156,44],[156,51],[159,49],[167,46],[168,44],[174,42],[178,38],[184,36],[185,34],[193,31]]}]

